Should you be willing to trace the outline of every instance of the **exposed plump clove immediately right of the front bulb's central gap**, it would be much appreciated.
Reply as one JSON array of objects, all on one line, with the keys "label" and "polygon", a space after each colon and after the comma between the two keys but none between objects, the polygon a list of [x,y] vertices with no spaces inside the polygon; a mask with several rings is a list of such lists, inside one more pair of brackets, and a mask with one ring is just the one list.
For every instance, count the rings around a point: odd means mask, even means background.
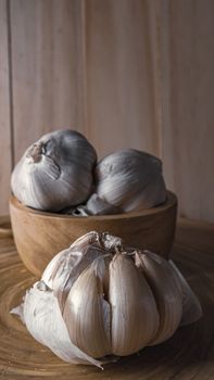
[{"label": "exposed plump clove immediately right of the front bulb's central gap", "polygon": [[110,264],[109,302],[112,353],[138,352],[155,335],[159,313],[147,280],[126,254],[116,254]]}]

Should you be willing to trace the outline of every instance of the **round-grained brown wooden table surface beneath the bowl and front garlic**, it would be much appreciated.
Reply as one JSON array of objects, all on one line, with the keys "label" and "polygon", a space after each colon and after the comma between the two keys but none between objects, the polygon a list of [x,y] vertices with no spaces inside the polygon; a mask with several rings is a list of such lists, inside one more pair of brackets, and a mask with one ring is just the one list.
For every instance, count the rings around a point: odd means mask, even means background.
[{"label": "round-grained brown wooden table surface beneath the bowl and front garlic", "polygon": [[0,379],[214,379],[214,225],[178,221],[172,256],[199,296],[203,317],[167,342],[100,370],[63,363],[37,343],[9,311],[34,281],[0,218]]}]

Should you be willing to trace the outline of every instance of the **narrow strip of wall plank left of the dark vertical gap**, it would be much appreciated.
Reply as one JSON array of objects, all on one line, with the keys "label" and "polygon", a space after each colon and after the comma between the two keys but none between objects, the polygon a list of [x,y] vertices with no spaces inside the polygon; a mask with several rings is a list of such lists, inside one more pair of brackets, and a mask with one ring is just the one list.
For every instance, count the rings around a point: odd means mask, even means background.
[{"label": "narrow strip of wall plank left of the dark vertical gap", "polygon": [[7,1],[0,0],[0,214],[8,214],[11,173]]}]

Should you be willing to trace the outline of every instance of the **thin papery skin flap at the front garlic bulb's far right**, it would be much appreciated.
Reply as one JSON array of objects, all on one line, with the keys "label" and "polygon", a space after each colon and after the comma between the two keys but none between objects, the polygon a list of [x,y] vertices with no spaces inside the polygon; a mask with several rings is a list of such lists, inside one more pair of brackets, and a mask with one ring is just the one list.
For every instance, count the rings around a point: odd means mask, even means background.
[{"label": "thin papery skin flap at the front garlic bulb's far right", "polygon": [[200,319],[203,314],[201,304],[175,263],[169,259],[169,264],[182,289],[182,318],[180,326],[192,324]]}]

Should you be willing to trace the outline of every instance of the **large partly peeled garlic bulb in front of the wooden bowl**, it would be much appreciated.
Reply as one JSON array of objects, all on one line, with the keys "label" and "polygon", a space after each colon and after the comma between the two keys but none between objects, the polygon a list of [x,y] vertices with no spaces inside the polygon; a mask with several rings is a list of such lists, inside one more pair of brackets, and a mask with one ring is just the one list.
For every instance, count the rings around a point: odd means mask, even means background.
[{"label": "large partly peeled garlic bulb in front of the wooden bowl", "polygon": [[171,338],[186,313],[186,322],[200,318],[180,276],[156,254],[91,231],[49,263],[12,313],[65,362],[101,367]]}]

